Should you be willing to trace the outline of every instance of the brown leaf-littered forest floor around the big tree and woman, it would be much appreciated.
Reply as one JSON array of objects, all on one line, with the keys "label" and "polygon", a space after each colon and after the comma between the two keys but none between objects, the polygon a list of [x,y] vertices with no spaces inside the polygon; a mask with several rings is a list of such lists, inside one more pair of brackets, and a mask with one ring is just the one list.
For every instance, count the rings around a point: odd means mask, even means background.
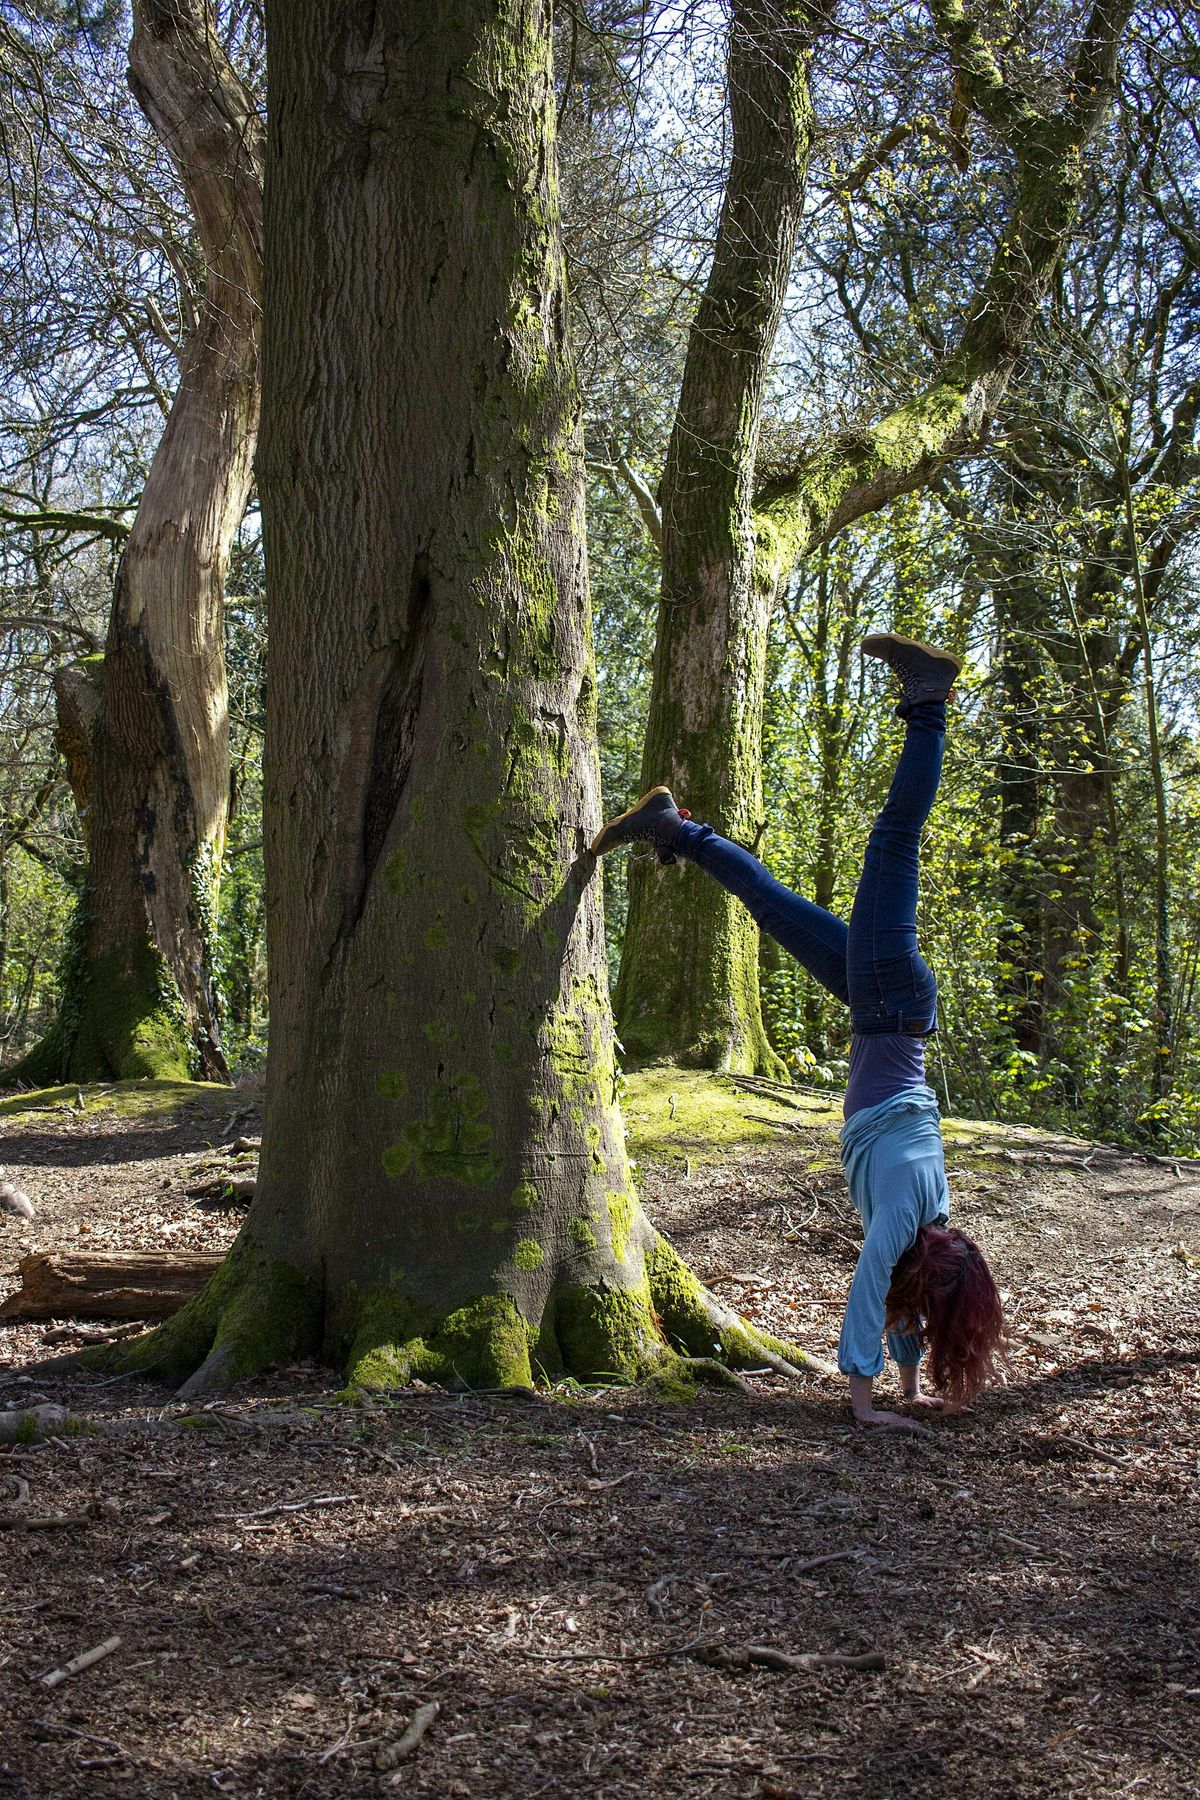
[{"label": "brown leaf-littered forest floor around the big tree and woman", "polygon": [[[219,1147],[254,1091],[81,1102],[0,1107],[38,1208],[0,1215],[0,1294],[23,1249],[236,1231],[187,1188],[252,1161]],[[655,1075],[626,1114],[678,1249],[831,1355],[835,1109]],[[2,1328],[0,1408],[130,1429],[0,1451],[7,1521],[76,1521],[0,1532],[0,1795],[1200,1795],[1200,1165],[959,1123],[946,1152],[1013,1359],[930,1436],[822,1379],[347,1408],[308,1366],[185,1429],[140,1382],[20,1375],[52,1327]]]}]

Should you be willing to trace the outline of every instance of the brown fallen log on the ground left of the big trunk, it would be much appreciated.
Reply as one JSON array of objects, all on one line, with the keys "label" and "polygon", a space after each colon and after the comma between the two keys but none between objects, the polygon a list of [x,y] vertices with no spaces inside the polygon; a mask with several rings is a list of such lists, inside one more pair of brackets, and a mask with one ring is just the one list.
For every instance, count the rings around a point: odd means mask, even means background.
[{"label": "brown fallen log on the ground left of the big trunk", "polygon": [[166,1319],[219,1267],[216,1255],[36,1251],[0,1319]]}]

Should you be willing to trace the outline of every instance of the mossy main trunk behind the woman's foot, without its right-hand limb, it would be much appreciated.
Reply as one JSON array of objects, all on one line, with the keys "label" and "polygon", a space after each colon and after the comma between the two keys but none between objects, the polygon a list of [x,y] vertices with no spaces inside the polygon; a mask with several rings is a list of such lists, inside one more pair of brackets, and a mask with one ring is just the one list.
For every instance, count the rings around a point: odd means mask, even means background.
[{"label": "mossy main trunk behind the woman's foot, without its right-hand limb", "polygon": [[[732,160],[687,340],[662,475],[662,594],[642,760],[696,819],[748,841],[761,819],[763,670],[774,581],[754,544],[763,382],[811,142],[806,67],[828,7],[734,0]],[[617,1022],[633,1062],[786,1075],[766,1040],[757,925],[716,882],[630,868]]]}]

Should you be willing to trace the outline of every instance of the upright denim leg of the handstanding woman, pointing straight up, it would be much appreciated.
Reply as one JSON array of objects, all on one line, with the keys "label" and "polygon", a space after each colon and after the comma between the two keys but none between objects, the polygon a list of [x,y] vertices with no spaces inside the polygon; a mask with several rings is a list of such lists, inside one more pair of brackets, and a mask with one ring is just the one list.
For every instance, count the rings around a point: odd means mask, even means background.
[{"label": "upright denim leg of the handstanding woman, pointing straight up", "polygon": [[887,801],[871,826],[846,949],[851,1013],[862,1010],[867,1030],[887,1030],[882,1019],[891,1012],[934,1015],[934,974],[918,950],[918,875],[945,742],[945,702],[914,706]]}]

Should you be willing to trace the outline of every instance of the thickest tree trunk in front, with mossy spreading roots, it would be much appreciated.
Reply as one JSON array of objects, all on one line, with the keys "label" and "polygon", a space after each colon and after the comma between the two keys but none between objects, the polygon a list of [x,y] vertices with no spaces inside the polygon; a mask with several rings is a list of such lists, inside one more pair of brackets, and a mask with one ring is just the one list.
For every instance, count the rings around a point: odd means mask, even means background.
[{"label": "thickest tree trunk in front, with mossy spreading roots", "polygon": [[268,4],[266,1129],[203,1391],[779,1355],[644,1219],[596,864],[549,0]]}]

